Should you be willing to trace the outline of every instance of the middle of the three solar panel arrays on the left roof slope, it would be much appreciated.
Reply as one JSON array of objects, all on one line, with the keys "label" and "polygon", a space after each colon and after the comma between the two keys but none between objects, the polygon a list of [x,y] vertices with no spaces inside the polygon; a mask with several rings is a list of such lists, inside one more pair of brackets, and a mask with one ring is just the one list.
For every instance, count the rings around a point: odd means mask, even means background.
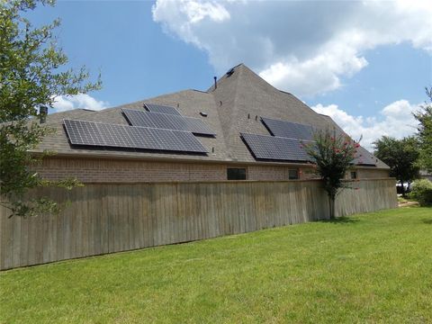
[{"label": "middle of the three solar panel arrays on the left roof slope", "polygon": [[212,135],[215,133],[200,119],[176,116],[169,113],[143,112],[122,109],[132,126],[151,127],[165,130],[191,131],[193,134]]}]

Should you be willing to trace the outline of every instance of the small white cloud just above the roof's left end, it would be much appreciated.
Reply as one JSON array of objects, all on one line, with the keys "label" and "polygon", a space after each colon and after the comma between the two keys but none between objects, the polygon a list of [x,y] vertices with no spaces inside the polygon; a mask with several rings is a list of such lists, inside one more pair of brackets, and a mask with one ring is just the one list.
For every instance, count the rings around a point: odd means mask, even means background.
[{"label": "small white cloud just above the roof's left end", "polygon": [[58,95],[52,105],[54,112],[66,112],[68,110],[83,108],[99,111],[108,106],[108,103],[98,101],[89,94]]}]

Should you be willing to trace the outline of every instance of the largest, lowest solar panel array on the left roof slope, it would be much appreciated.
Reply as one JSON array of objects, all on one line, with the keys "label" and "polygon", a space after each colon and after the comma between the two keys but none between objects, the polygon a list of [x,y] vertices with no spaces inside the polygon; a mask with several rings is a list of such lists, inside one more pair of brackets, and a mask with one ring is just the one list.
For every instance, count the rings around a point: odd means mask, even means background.
[{"label": "largest, lowest solar panel array on the left roof slope", "polygon": [[177,152],[206,153],[191,132],[147,127],[64,120],[72,145],[111,148],[143,148]]}]

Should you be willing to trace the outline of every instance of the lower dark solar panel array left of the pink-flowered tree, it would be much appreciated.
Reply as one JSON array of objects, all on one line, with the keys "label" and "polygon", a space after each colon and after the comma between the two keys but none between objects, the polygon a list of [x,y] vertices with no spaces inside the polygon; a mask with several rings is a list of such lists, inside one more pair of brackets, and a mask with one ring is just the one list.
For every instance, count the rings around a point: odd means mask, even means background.
[{"label": "lower dark solar panel array left of the pink-flowered tree", "polygon": [[302,140],[241,133],[247,147],[257,159],[310,161],[311,157],[302,148]]}]

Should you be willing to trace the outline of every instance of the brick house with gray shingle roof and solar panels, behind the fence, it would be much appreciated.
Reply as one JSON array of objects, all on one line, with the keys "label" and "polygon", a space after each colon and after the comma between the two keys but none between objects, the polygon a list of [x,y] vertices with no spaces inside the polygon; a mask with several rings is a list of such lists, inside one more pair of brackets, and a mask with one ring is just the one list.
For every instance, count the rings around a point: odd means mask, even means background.
[{"label": "brick house with gray shingle roof and solar panels, behind the fence", "polygon": [[[57,128],[34,151],[45,178],[84,183],[290,180],[311,175],[301,149],[311,130],[338,130],[329,116],[266,83],[243,64],[207,91],[184,90],[99,112],[49,114]],[[361,148],[348,177],[387,178],[389,167]]]}]

